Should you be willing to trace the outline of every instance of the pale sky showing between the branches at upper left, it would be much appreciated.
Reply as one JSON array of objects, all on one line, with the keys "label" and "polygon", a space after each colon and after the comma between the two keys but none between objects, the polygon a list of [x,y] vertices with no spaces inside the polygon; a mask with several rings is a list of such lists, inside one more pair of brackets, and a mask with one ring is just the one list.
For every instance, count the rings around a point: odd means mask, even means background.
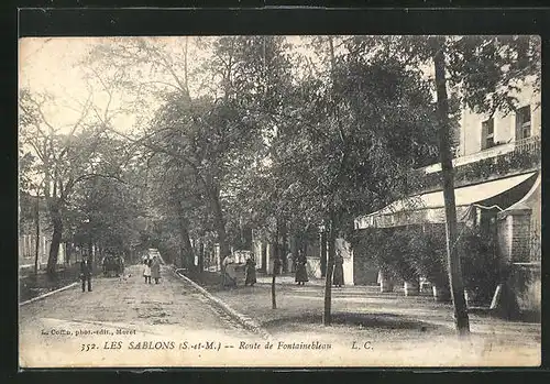
[{"label": "pale sky showing between the branches at upper left", "polygon": [[[29,88],[31,94],[46,92],[53,96],[53,101],[44,108],[46,119],[55,127],[59,127],[61,133],[67,133],[70,127],[79,120],[82,105],[90,98],[95,106],[105,109],[108,95],[102,91],[101,85],[94,79],[85,79],[87,72],[84,61],[89,58],[90,51],[100,44],[109,46],[112,43],[132,37],[26,37],[19,42],[19,75],[20,88]],[[164,46],[164,51],[170,53],[175,59],[175,69],[182,69],[184,36],[174,37],[145,37],[155,45]],[[191,94],[205,91],[198,84],[195,75],[204,61],[208,58],[209,52],[196,47],[196,39],[189,36],[189,87]],[[314,52],[304,46],[300,36],[287,36],[287,42],[293,44],[294,51],[302,55],[315,56]],[[179,68],[178,68],[179,66]],[[140,80],[172,80],[169,75],[140,73]],[[164,78],[163,78],[164,76]],[[153,116],[158,107],[158,101],[150,96],[144,97],[145,103],[138,113],[120,114],[113,120],[116,129],[123,132],[138,130],[139,114],[145,120]],[[130,100],[128,95],[118,94],[113,97],[111,108],[121,106],[121,102]],[[90,113],[91,114],[91,113]]]}]

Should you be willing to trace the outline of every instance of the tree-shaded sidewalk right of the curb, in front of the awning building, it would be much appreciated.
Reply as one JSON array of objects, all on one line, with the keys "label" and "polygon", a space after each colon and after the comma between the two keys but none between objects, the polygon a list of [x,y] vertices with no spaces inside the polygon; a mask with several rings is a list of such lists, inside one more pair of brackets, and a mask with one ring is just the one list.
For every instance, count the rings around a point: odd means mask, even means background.
[{"label": "tree-shaded sidewalk right of the curb, in front of the awning building", "polygon": [[399,292],[381,294],[376,286],[344,286],[332,288],[332,325],[324,327],[322,279],[297,286],[293,276],[277,276],[277,309],[272,309],[271,282],[272,276],[258,275],[253,287],[244,287],[242,282],[231,290],[205,287],[275,338],[318,336],[324,342],[346,345],[367,340],[384,351],[378,356],[386,359],[384,365],[396,355],[400,356],[397,365],[409,365],[403,359],[430,366],[532,365],[540,361],[540,323],[470,314],[472,336],[464,343],[455,337],[449,304],[435,303],[429,296],[405,297]]}]

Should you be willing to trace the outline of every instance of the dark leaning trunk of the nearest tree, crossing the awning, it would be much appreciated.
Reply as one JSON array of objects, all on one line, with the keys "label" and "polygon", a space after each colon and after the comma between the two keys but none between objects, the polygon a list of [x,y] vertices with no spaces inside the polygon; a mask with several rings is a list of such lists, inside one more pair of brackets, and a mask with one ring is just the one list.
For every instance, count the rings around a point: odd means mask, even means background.
[{"label": "dark leaning trunk of the nearest tree, crossing the awning", "polygon": [[446,64],[443,56],[443,44],[433,40],[433,64],[436,69],[437,88],[437,114],[439,120],[439,155],[441,160],[441,173],[443,176],[443,198],[446,205],[447,220],[447,255],[449,264],[449,281],[451,297],[454,305],[454,325],[459,334],[470,333],[470,320],[468,316],[466,301],[464,298],[464,284],[462,282],[461,252],[462,246],[458,243],[457,207],[454,200],[454,176],[452,166],[449,100],[446,84]]}]

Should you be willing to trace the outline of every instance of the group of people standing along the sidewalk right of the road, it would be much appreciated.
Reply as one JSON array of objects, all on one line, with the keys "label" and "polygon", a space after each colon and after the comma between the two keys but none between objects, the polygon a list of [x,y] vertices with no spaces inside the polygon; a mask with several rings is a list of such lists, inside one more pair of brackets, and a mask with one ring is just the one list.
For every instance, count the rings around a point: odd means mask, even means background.
[{"label": "group of people standing along the sidewalk right of the road", "polygon": [[[306,285],[309,282],[307,272],[307,259],[302,252],[299,252],[298,257],[294,260],[292,254],[288,255],[287,261],[292,261],[292,272],[295,272],[295,282],[298,285]],[[280,260],[274,260],[274,271],[278,274],[282,263]],[[222,286],[233,288],[237,287],[237,267],[238,263],[233,255],[228,255],[222,262]],[[252,254],[244,264],[244,286],[253,286],[256,283],[256,262]],[[332,275],[332,284],[337,287],[344,285],[343,278],[343,256],[340,251],[337,251],[334,257],[334,270]]]}]

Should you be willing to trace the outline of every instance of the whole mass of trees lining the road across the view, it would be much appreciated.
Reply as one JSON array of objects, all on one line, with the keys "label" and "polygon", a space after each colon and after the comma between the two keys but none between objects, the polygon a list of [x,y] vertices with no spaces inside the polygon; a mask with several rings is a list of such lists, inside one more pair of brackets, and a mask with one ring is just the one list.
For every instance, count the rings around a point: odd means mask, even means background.
[{"label": "whole mass of trees lining the road across the view", "polygon": [[[124,37],[98,44],[82,63],[108,96],[103,109],[84,102],[82,119],[61,138],[22,92],[21,125],[35,130],[22,134],[45,175],[54,240],[69,202],[91,217],[97,193],[120,197],[99,198],[107,206],[131,201],[113,217],[134,232],[141,217],[157,222],[186,257],[197,240],[228,254],[243,227],[280,244],[280,256],[289,234],[306,239],[323,228],[326,323],[337,237],[349,235],[354,217],[407,195],[410,171],[439,155],[455,318],[468,330],[454,246],[455,112],[514,109],[517,80],[540,72],[538,47],[529,37]],[[132,99],[119,111],[140,117],[141,133],[118,128],[116,95]],[[158,106],[152,117],[140,114],[147,105]],[[105,230],[105,220],[94,222]]]}]

